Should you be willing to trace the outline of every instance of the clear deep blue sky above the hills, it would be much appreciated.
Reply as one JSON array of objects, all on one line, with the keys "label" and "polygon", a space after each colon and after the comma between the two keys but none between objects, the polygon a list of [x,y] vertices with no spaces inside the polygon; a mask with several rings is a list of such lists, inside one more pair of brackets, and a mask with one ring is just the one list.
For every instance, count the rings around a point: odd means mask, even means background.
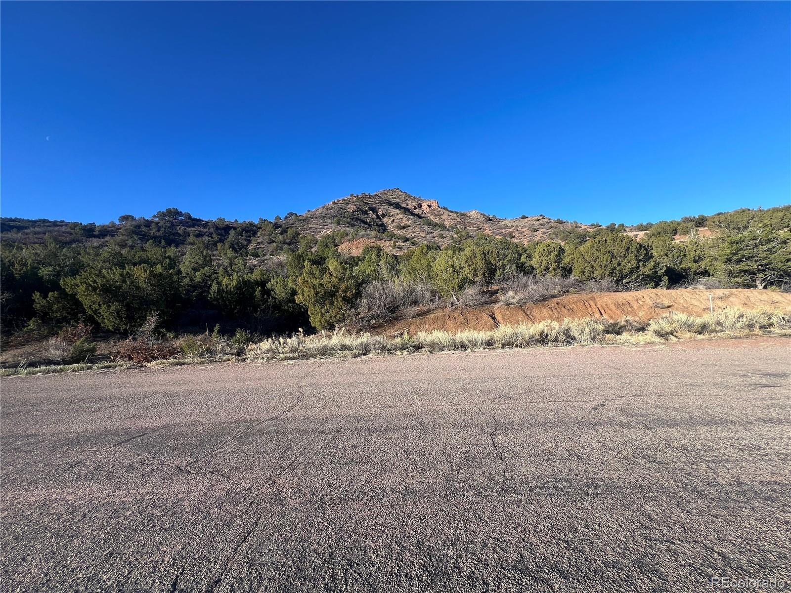
[{"label": "clear deep blue sky above the hills", "polygon": [[[2,2],[2,215],[791,202],[789,2]],[[47,140],[47,138],[49,138]]]}]

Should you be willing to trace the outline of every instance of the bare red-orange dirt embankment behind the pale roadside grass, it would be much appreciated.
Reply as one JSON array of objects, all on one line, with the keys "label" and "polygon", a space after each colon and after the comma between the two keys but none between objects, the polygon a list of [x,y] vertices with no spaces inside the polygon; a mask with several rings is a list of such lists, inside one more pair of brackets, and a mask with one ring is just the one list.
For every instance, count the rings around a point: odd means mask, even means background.
[{"label": "bare red-orange dirt embankment behind the pale roadside grass", "polygon": [[430,330],[492,330],[501,325],[537,323],[545,319],[620,319],[647,321],[677,311],[690,315],[709,312],[709,295],[715,311],[725,308],[769,308],[791,312],[791,293],[757,289],[636,290],[630,293],[583,293],[558,296],[536,304],[486,305],[478,308],[439,309],[398,319],[377,328],[377,334],[410,334]]}]

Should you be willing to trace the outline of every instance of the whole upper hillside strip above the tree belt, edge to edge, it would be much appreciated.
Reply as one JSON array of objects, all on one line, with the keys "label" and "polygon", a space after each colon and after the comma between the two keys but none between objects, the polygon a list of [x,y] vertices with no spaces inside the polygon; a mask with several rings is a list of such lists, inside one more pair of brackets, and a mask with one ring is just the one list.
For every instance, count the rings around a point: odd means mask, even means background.
[{"label": "whole upper hillside strip above the tree belt, edge to edge", "polygon": [[742,232],[755,222],[773,229],[791,227],[791,206],[767,210],[733,210],[711,216],[689,216],[680,221],[658,221],[626,227],[611,223],[602,229],[598,223],[582,225],[537,215],[500,218],[479,210],[457,212],[441,206],[437,200],[419,198],[398,188],[374,194],[348,195],[308,210],[288,213],[274,221],[228,221],[225,218],[202,220],[177,208],[161,210],[151,217],[122,214],[118,222],[107,224],[52,221],[44,218],[0,218],[0,232],[5,244],[44,244],[49,236],[59,245],[116,244],[124,247],[148,241],[182,247],[191,239],[212,243],[230,241],[234,250],[250,255],[273,255],[283,247],[295,247],[300,235],[320,237],[337,232],[342,245],[339,251],[359,255],[368,245],[380,245],[396,254],[420,244],[441,247],[457,240],[484,233],[505,237],[520,244],[542,240],[571,241],[581,244],[601,230],[627,232],[637,240],[651,236],[671,236],[676,241],[695,236],[717,236],[722,232]]}]

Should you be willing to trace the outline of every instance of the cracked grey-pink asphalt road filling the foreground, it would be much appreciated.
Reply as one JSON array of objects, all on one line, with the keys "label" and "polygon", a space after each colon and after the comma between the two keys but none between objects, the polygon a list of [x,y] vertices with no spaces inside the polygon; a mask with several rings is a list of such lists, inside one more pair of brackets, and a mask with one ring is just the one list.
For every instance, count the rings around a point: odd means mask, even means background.
[{"label": "cracked grey-pink asphalt road filling the foreground", "polygon": [[788,582],[789,346],[4,379],[2,588]]}]

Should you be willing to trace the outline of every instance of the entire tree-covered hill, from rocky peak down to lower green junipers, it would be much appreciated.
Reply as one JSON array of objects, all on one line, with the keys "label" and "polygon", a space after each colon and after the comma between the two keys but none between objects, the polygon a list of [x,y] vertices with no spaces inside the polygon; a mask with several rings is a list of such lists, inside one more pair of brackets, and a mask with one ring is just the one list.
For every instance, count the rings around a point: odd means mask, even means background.
[{"label": "entire tree-covered hill, from rocky peak down to lower green junipers", "polygon": [[[55,330],[82,319],[134,334],[153,315],[163,330],[325,329],[409,304],[463,303],[471,289],[531,276],[616,289],[702,278],[783,288],[789,228],[791,206],[627,228],[460,213],[399,190],[274,221],[205,221],[176,208],[106,225],[3,218],[2,327]],[[361,239],[369,247],[346,255],[343,245]]]}]

